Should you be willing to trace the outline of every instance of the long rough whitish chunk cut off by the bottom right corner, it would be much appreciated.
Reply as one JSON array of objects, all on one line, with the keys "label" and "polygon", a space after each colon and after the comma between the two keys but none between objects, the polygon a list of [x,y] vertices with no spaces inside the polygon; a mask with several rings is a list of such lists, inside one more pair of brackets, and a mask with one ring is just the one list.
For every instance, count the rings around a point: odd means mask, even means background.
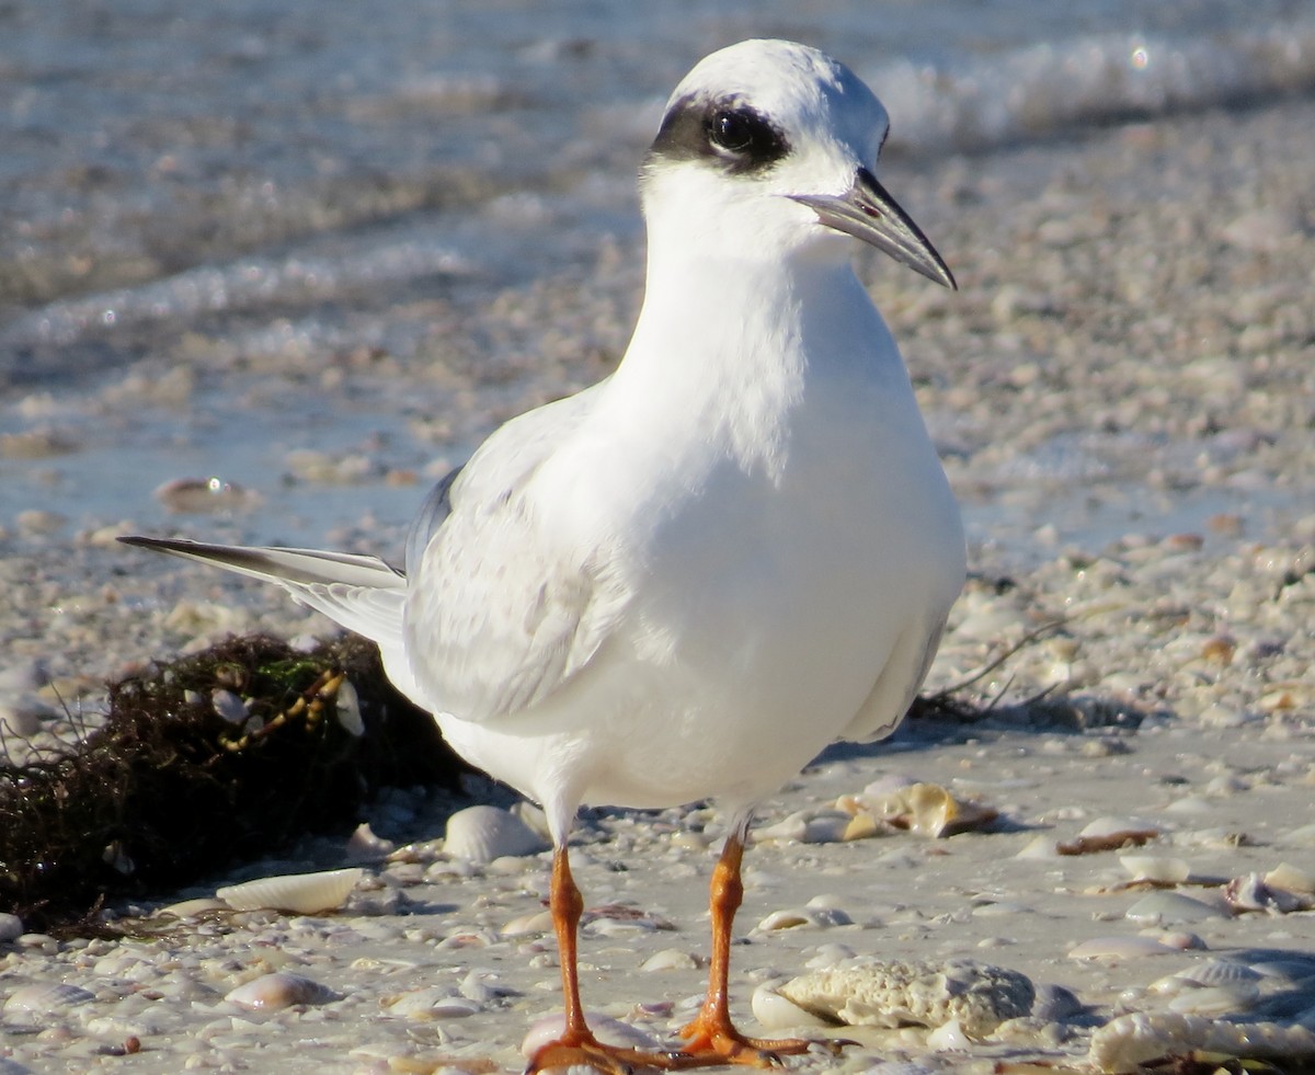
[{"label": "long rough whitish chunk cut off by the bottom right corner", "polygon": [[1145,1061],[1194,1050],[1230,1057],[1315,1057],[1315,1030],[1277,1022],[1227,1022],[1173,1012],[1119,1016],[1091,1034],[1088,1059],[1101,1071],[1131,1072]]}]

